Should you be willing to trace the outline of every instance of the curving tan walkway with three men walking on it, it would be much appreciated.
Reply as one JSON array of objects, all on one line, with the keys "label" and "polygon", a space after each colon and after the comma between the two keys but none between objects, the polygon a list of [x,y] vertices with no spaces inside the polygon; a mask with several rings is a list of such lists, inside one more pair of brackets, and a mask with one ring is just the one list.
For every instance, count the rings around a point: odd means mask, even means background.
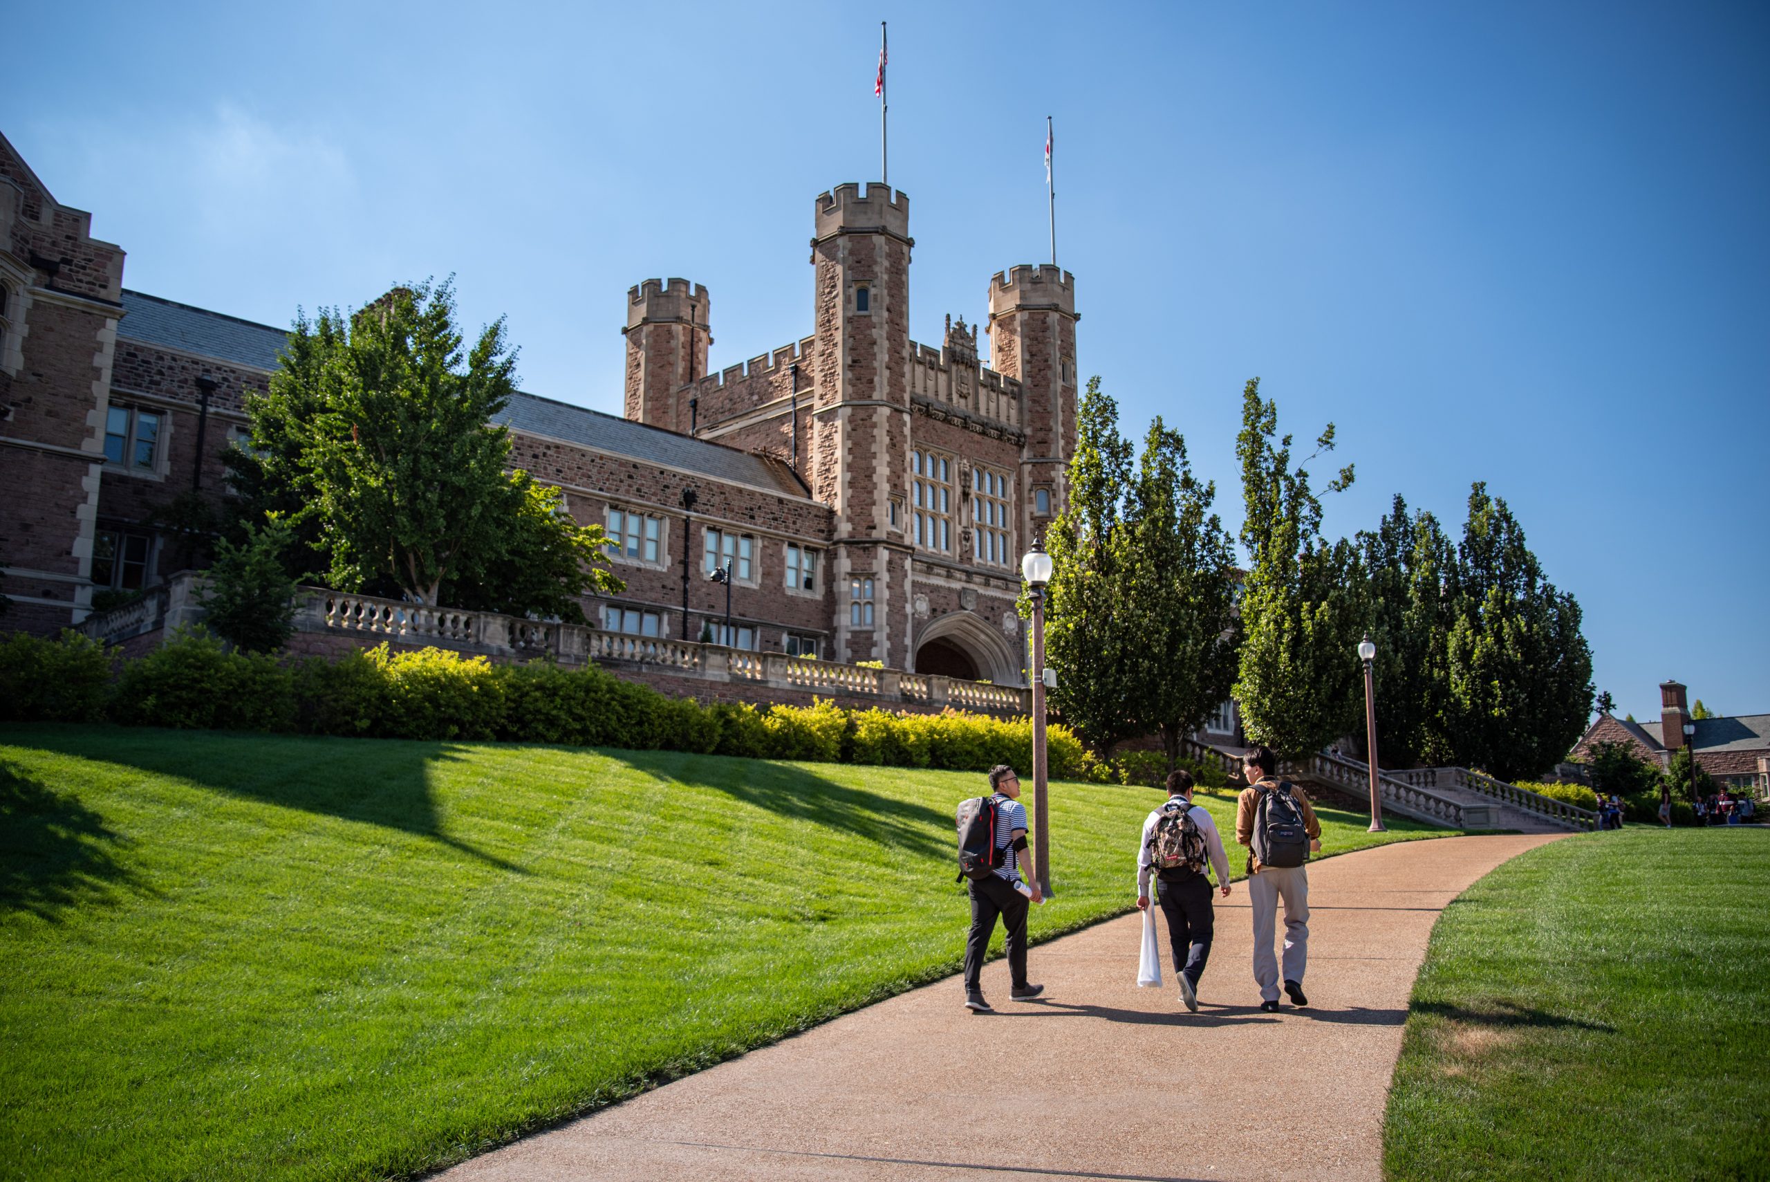
[{"label": "curving tan walkway with three men walking on it", "polygon": [[[1198,1014],[1172,964],[1166,987],[1136,987],[1131,915],[1032,948],[1037,1002],[1009,1002],[997,961],[984,970],[993,1016],[965,1010],[949,979],[441,1177],[1379,1178],[1384,1095],[1432,924],[1547,840],[1414,840],[1312,865],[1303,1010],[1260,1012],[1237,883],[1218,899]],[[956,897],[954,945],[963,925]]]}]

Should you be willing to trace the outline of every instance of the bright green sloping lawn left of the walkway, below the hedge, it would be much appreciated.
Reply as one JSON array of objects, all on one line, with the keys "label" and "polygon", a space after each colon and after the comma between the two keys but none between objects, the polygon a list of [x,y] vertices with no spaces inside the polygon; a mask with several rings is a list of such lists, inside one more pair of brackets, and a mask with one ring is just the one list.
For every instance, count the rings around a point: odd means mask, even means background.
[{"label": "bright green sloping lawn left of the walkway, below the hedge", "polygon": [[[982,789],[0,727],[0,1177],[411,1175],[935,980],[966,924],[952,810]],[[1053,786],[1035,940],[1129,910],[1159,800]],[[1322,821],[1326,853],[1372,844]]]}]

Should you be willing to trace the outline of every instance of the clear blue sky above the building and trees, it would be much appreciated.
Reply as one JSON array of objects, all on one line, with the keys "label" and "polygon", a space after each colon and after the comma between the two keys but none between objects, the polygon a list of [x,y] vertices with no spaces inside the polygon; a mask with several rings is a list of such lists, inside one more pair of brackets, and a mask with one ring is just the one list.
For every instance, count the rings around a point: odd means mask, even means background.
[{"label": "clear blue sky above the building and trees", "polygon": [[455,274],[524,388],[621,409],[625,292],[712,292],[713,365],[811,331],[812,198],[912,198],[912,334],[1043,262],[1083,375],[1241,518],[1258,375],[1333,419],[1335,533],[1510,501],[1597,687],[1770,711],[1763,4],[25,5],[0,129],[131,288],[287,324]]}]

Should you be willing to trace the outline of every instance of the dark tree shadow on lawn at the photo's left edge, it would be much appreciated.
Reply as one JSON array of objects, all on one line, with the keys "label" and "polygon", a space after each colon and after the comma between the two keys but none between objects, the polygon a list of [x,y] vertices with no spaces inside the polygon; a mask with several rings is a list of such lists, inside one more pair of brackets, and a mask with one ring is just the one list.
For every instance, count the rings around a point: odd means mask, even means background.
[{"label": "dark tree shadow on lawn at the photo's left edge", "polygon": [[142,890],[117,860],[127,844],[71,793],[0,761],[0,913],[28,911],[51,924],[64,910]]}]

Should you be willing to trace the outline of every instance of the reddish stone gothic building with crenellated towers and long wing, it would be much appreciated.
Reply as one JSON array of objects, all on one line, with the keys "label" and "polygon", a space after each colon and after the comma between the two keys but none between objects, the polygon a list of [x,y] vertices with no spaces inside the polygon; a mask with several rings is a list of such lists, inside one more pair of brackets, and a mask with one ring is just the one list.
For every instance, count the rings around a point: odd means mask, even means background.
[{"label": "reddish stone gothic building with crenellated towers and long wing", "polygon": [[[88,228],[0,140],[11,628],[78,623],[94,595],[173,573],[147,520],[191,488],[228,495],[221,455],[285,340],[126,288],[124,251]],[[646,280],[621,326],[625,418],[512,400],[513,464],[609,529],[627,591],[586,603],[593,623],[1021,683],[1020,556],[1074,449],[1074,280],[997,274],[986,368],[963,320],[940,349],[910,340],[913,246],[903,193],[837,186],[812,207],[809,334],[708,373],[706,288]],[[710,580],[726,564],[729,633]]]}]

